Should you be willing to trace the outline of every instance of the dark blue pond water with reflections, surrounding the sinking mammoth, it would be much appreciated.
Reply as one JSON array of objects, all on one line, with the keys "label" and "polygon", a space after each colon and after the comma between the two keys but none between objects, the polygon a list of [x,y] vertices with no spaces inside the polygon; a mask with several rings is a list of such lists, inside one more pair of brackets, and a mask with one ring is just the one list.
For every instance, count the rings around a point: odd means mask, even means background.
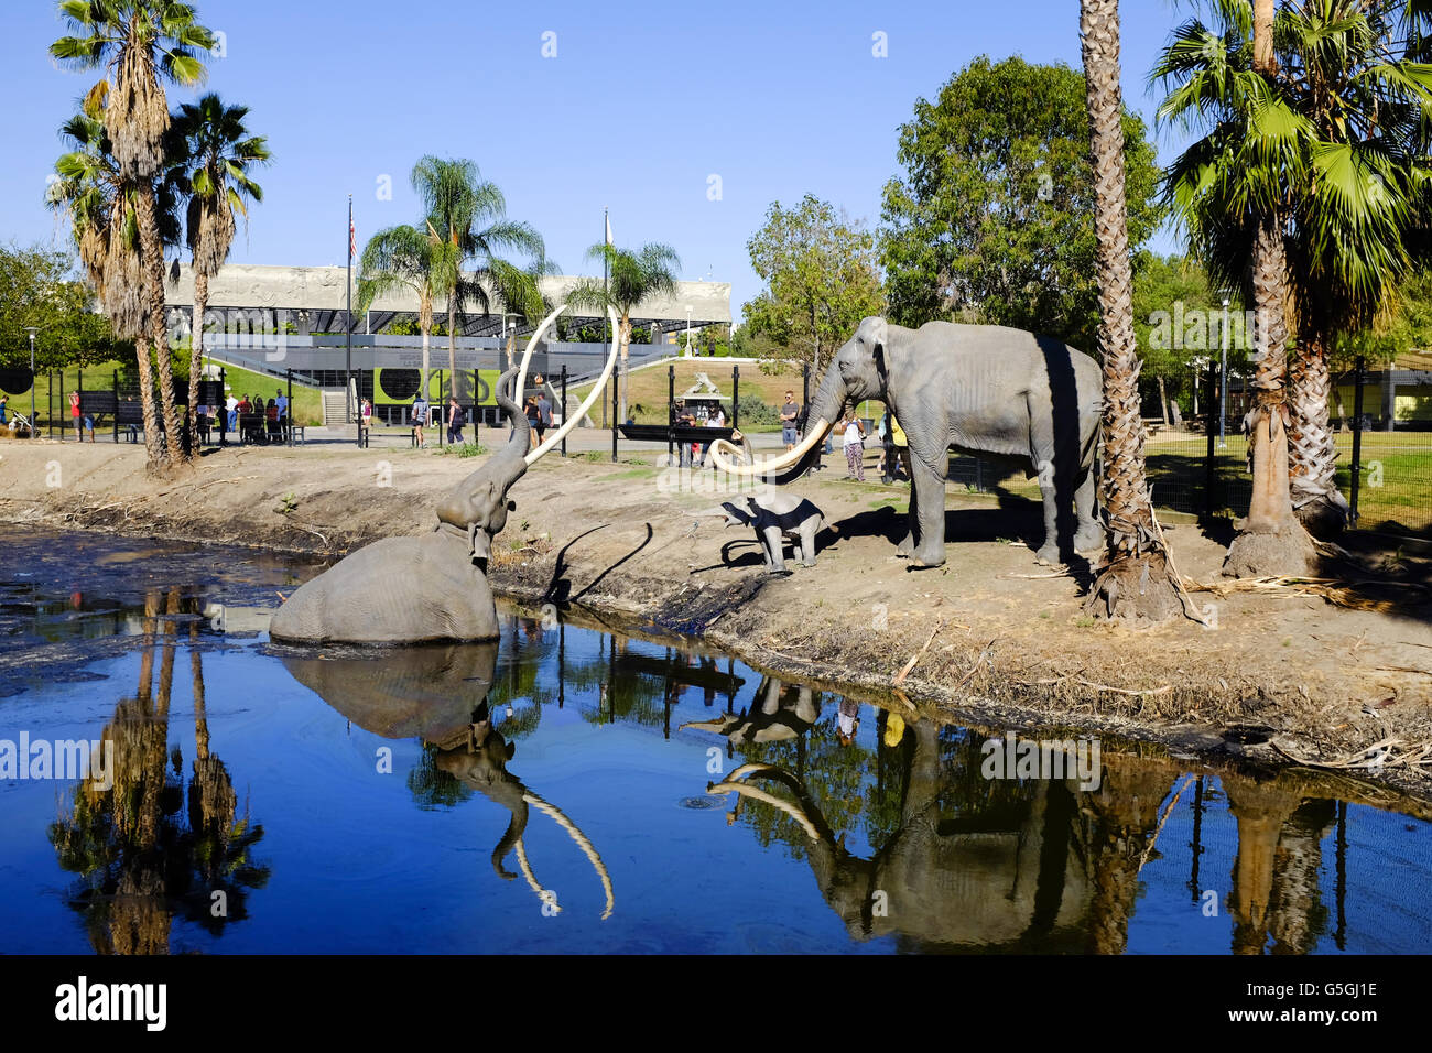
[{"label": "dark blue pond water with reflections, surrounding the sinking mammoth", "polygon": [[987,778],[990,732],[553,616],[292,652],[301,564],[0,553],[0,764],[115,758],[0,781],[3,953],[1432,950],[1432,830],[1353,787],[1114,744],[1097,788]]}]

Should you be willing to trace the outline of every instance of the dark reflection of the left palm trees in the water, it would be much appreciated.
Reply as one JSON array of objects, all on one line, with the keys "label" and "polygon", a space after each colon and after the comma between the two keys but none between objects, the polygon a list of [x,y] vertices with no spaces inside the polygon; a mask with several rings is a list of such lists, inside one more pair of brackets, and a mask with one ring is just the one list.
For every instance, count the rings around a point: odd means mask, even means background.
[{"label": "dark reflection of the left palm trees in the water", "polygon": [[[137,691],[119,701],[100,742],[100,749],[113,748],[113,785],[80,782],[67,814],[49,830],[60,867],[82,878],[70,905],[84,917],[100,954],[169,953],[175,914],[221,936],[226,924],[248,917],[248,890],[262,888],[269,877],[249,858],[263,828],[246,811],[238,818],[229,772],[211,751],[202,653],[195,646],[189,655],[198,756],[188,825],[180,818],[183,759],[178,748],[168,749],[179,615],[178,590],[168,592],[163,615],[160,595],[146,597]],[[189,619],[189,626],[193,645],[198,622]]]}]

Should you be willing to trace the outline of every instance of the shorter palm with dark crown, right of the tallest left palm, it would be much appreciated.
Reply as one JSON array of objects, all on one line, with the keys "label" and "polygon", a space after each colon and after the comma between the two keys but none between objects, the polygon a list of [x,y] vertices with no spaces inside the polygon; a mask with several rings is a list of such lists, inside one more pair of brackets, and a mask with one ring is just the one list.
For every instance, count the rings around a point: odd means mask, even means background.
[{"label": "shorter palm with dark crown, right of the tallest left palm", "polygon": [[183,103],[173,117],[173,153],[183,169],[189,195],[185,239],[193,256],[193,335],[189,341],[189,443],[198,448],[199,367],[203,360],[203,314],[209,307],[209,279],[233,246],[233,213],[248,221],[246,202],[263,201],[263,188],[249,170],[272,155],[263,136],[249,135],[243,119],[248,106],[226,106],[213,95]]}]

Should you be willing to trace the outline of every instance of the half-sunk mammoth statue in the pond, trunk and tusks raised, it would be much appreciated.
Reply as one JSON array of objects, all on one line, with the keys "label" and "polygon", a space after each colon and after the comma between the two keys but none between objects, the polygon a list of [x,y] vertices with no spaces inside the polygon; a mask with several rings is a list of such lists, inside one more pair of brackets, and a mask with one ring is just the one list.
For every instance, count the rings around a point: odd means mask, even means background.
[{"label": "half-sunk mammoth statue in the pond, trunk and tusks raised", "polygon": [[[508,370],[498,380],[497,404],[511,427],[507,446],[438,503],[432,532],[374,542],[305,583],[274,615],[272,639],[392,645],[497,638],[497,607],[485,572],[493,537],[516,507],[507,491],[531,464],[556,448],[601,397],[616,362],[613,338],[606,368],[586,401],[541,446],[528,451],[527,417],[517,400],[533,347],[564,309],[558,307],[547,315],[528,341],[520,368]],[[616,314],[611,321],[616,332]],[[517,398],[508,394],[508,385]]]}]

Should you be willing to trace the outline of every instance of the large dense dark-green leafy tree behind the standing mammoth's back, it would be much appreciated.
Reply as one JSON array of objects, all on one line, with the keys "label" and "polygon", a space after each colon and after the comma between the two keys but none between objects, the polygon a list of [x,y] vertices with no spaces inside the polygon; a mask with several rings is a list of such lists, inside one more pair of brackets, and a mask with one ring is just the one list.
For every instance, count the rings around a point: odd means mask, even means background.
[{"label": "large dense dark-green leafy tree behind the standing mammoth's back", "polygon": [[[981,57],[899,130],[881,259],[891,319],[1014,325],[1093,350],[1098,325],[1094,169],[1084,77]],[[1123,110],[1128,241],[1160,222],[1143,122]]]}]

